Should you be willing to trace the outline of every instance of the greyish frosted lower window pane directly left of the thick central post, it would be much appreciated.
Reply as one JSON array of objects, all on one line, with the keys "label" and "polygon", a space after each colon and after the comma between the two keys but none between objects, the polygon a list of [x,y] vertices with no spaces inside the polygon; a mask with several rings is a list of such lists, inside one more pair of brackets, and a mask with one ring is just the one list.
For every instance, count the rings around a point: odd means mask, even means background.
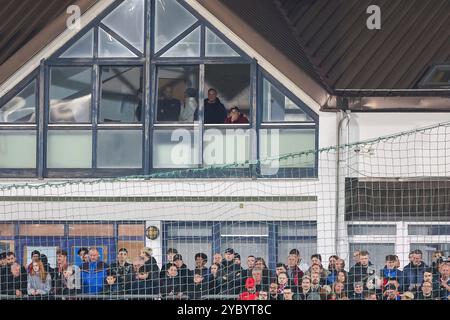
[{"label": "greyish frosted lower window pane directly left of the thick central post", "polygon": [[142,130],[99,130],[98,168],[142,168]]}]

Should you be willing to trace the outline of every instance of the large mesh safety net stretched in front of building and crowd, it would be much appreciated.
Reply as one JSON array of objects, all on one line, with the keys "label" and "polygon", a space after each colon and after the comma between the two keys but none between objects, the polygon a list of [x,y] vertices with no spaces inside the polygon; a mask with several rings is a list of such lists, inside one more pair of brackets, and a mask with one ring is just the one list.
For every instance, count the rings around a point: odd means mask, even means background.
[{"label": "large mesh safety net stretched in front of building and crowd", "polygon": [[261,162],[3,181],[1,298],[447,300],[449,138],[441,123]]}]

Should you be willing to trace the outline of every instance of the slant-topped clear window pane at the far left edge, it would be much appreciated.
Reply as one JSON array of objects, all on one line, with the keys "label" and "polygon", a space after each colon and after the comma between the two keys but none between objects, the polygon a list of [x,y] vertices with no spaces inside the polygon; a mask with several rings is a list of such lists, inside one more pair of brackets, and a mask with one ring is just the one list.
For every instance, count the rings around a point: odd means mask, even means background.
[{"label": "slant-topped clear window pane at the far left edge", "polygon": [[0,123],[36,122],[36,80],[0,107]]}]

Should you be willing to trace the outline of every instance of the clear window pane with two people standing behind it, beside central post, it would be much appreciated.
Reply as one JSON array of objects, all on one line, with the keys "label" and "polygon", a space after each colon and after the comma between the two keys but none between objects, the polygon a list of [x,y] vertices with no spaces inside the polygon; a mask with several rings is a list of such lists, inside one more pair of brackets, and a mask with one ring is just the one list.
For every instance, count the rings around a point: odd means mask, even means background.
[{"label": "clear window pane with two people standing behind it, beside central post", "polygon": [[158,68],[157,122],[194,122],[198,74],[198,66]]}]

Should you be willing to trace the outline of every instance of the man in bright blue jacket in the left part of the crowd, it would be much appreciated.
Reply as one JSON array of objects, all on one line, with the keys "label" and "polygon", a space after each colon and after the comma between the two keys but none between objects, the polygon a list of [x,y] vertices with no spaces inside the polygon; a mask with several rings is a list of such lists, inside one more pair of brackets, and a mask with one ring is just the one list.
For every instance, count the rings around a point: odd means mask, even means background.
[{"label": "man in bright blue jacket in the left part of the crowd", "polygon": [[103,292],[108,265],[100,260],[97,248],[89,249],[89,262],[81,265],[81,283],[83,293],[98,294]]}]

